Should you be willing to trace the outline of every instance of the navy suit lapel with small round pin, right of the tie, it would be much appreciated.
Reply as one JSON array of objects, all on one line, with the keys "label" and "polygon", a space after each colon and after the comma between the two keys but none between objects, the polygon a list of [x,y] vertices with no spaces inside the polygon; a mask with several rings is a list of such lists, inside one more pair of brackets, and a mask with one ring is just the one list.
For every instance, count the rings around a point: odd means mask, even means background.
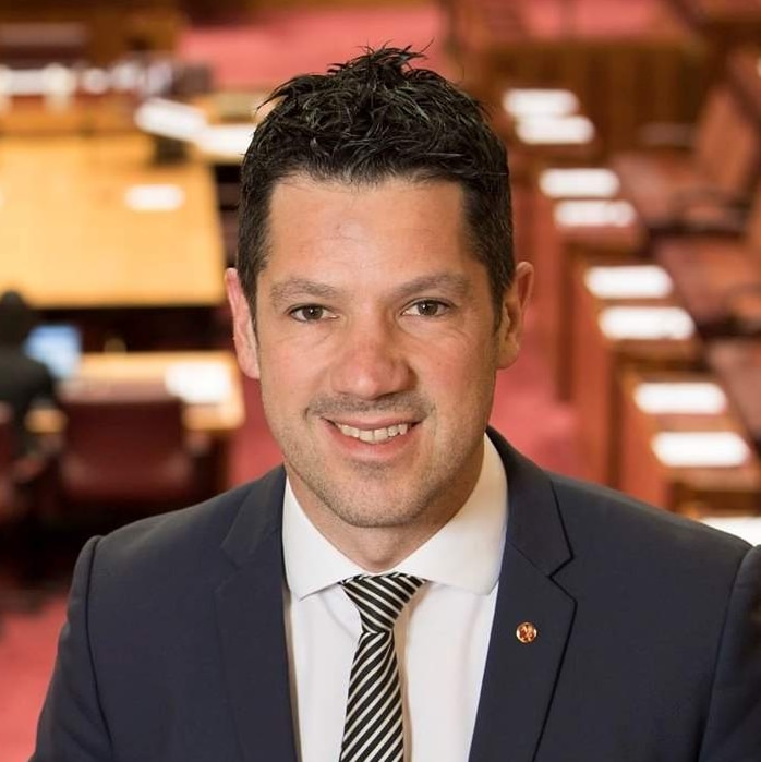
[{"label": "navy suit lapel with small round pin, right of the tie", "polygon": [[[552,579],[570,549],[546,475],[490,435],[507,470],[509,518],[470,762],[530,762],[573,617],[573,600]],[[518,638],[522,622],[535,627],[533,642]]]}]

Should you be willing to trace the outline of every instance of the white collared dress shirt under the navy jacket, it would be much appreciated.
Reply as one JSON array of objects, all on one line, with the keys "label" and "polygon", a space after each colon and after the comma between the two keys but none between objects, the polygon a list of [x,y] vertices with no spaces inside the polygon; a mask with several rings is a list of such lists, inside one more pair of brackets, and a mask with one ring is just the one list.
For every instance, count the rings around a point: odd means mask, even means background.
[{"label": "white collared dress shirt under the navy jacket", "polygon": [[[485,437],[467,503],[388,571],[430,580],[395,627],[406,696],[406,759],[466,762],[488,648],[507,525],[507,480]],[[338,582],[367,573],[306,518],[290,484],[283,499],[286,632],[301,762],[340,757],[360,616]]]}]

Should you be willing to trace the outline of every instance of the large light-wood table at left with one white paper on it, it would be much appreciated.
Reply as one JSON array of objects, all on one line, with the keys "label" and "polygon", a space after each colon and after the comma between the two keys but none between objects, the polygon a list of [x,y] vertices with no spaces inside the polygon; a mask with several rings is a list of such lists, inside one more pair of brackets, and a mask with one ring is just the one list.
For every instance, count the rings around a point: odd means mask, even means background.
[{"label": "large light-wood table at left with one white paper on it", "polygon": [[[200,164],[150,161],[143,135],[0,142],[0,290],[39,309],[216,306],[224,252]],[[172,185],[179,208],[136,211],[135,185]]]}]

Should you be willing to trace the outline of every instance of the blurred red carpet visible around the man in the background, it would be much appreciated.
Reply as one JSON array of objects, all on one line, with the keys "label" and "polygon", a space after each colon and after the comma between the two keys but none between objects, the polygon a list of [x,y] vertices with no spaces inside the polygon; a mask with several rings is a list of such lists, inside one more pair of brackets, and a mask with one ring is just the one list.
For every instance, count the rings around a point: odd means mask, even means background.
[{"label": "blurred red carpet visible around the man in the background", "polygon": [[[418,47],[432,43],[430,64],[446,72],[442,37],[436,8],[423,5],[403,11],[273,14],[246,27],[190,32],[181,51],[188,59],[214,61],[218,83],[235,87],[269,85],[300,71],[324,70],[369,43]],[[493,423],[543,465],[575,473],[572,414],[553,401],[531,332],[529,325],[521,358],[499,377]],[[233,446],[231,483],[264,473],[279,460],[254,383],[245,383],[245,398],[247,424]],[[9,615],[0,622],[0,762],[22,762],[31,753],[63,616],[62,596],[52,596],[40,610]]]}]

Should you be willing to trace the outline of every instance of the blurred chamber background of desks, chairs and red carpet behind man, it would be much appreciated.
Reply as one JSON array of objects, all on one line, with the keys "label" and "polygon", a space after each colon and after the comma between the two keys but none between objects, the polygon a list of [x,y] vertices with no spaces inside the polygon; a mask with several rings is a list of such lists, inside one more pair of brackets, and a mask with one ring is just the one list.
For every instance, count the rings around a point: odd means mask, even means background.
[{"label": "blurred chamber background of desks, chairs and red carpet behind man", "polygon": [[493,423],[761,542],[761,0],[0,0],[0,762],[85,539],[279,461],[224,301],[240,159],[274,85],[383,44],[508,146],[537,283]]}]

